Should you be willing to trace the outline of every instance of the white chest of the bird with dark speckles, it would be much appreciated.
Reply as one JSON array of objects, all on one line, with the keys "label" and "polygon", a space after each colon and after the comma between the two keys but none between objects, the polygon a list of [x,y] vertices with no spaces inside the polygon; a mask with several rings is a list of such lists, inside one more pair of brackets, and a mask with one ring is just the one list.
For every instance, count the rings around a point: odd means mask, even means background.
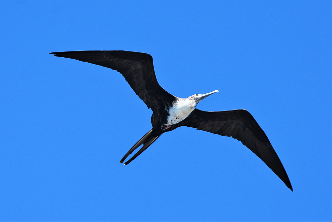
[{"label": "white chest of the bird with dark speckles", "polygon": [[166,126],[170,126],[181,122],[188,115],[195,110],[196,102],[189,99],[178,100],[172,108],[169,109],[169,116],[167,117]]}]

